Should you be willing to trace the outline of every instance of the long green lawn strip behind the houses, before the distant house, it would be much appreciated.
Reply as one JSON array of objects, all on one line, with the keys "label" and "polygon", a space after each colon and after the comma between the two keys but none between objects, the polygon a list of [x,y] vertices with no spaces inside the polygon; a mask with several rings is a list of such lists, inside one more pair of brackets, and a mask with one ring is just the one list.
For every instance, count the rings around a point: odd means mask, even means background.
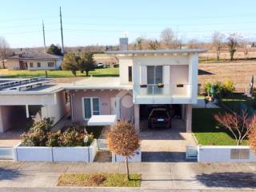
[{"label": "long green lawn strip behind the houses, before the distant house", "polygon": [[[45,76],[46,71],[49,78],[70,78],[74,77],[70,70],[0,70],[0,75],[5,78],[34,78],[38,76]],[[89,75],[94,77],[118,77],[118,68],[96,69],[90,71]],[[77,72],[78,77],[85,77],[86,74]]]}]

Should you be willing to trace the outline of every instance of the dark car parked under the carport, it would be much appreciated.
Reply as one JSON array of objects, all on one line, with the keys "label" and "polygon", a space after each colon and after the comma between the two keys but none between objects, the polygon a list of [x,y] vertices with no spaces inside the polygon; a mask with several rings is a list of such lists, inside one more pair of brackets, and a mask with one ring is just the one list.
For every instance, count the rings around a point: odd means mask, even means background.
[{"label": "dark car parked under the carport", "polygon": [[150,112],[148,125],[150,128],[171,128],[169,111],[166,108],[154,108]]}]

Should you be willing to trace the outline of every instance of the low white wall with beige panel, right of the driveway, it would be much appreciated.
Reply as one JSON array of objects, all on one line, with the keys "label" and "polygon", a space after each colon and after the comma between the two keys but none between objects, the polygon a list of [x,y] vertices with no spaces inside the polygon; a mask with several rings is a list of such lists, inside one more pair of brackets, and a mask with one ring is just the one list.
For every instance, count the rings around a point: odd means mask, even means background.
[{"label": "low white wall with beige panel, right of the driveway", "polygon": [[198,146],[198,162],[256,162],[250,146]]}]

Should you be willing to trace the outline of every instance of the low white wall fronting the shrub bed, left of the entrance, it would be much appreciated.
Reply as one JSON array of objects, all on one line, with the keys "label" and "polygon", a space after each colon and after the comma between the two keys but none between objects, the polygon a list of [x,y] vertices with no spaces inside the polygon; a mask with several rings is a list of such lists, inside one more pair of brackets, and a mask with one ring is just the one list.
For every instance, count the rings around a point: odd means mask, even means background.
[{"label": "low white wall fronting the shrub bed, left of the entrance", "polygon": [[15,162],[94,162],[98,151],[97,142],[90,146],[47,147],[47,146],[14,147]]}]

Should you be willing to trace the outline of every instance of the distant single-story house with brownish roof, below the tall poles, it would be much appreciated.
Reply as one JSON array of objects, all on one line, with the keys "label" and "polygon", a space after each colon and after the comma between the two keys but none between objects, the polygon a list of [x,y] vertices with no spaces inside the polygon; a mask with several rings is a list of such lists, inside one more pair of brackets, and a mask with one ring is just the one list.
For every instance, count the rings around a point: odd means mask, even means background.
[{"label": "distant single-story house with brownish roof, below the tall poles", "polygon": [[6,58],[8,70],[60,70],[62,57],[46,53],[15,54]]}]

